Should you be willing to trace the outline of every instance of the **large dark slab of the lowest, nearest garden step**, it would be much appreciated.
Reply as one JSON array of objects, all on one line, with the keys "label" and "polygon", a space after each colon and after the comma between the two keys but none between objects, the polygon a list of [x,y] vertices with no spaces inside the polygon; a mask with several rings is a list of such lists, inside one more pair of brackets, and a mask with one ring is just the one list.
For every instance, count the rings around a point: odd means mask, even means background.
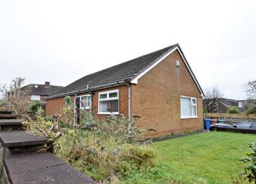
[{"label": "large dark slab of the lowest, nearest garden step", "polygon": [[96,183],[49,152],[5,157],[4,165],[13,184]]}]

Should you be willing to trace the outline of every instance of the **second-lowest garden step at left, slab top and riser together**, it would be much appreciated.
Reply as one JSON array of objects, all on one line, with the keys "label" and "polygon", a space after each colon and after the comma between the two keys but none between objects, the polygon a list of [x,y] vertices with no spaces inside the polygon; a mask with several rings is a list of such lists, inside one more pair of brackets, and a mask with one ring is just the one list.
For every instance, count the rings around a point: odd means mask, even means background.
[{"label": "second-lowest garden step at left, slab top and riser together", "polygon": [[1,131],[0,139],[3,146],[8,149],[9,154],[37,152],[43,149],[43,144],[47,143],[46,138],[35,136],[26,131]]}]

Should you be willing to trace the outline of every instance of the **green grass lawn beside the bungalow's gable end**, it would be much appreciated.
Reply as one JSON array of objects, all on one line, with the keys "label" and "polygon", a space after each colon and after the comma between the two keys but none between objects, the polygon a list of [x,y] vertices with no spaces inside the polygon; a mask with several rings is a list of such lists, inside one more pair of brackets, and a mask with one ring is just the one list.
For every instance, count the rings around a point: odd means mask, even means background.
[{"label": "green grass lawn beside the bungalow's gable end", "polygon": [[252,134],[210,132],[153,143],[156,167],[134,172],[122,183],[232,183],[244,164],[239,161]]}]

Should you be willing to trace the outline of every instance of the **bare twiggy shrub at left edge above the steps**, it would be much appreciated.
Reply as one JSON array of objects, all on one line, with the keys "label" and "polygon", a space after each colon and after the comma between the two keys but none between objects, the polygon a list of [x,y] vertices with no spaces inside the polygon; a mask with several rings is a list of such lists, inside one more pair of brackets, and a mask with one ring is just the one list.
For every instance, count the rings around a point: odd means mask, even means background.
[{"label": "bare twiggy shrub at left edge above the steps", "polygon": [[1,104],[7,110],[13,111],[24,120],[30,120],[27,111],[30,108],[30,88],[22,89],[25,79],[17,77],[12,83],[0,84]]}]

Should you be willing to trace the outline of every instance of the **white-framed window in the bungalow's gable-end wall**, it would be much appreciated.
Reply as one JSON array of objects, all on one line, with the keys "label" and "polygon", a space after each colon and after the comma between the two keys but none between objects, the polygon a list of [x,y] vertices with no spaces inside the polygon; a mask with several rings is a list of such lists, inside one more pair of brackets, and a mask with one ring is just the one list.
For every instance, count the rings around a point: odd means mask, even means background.
[{"label": "white-framed window in the bungalow's gable-end wall", "polygon": [[197,118],[197,99],[181,96],[181,118]]}]

